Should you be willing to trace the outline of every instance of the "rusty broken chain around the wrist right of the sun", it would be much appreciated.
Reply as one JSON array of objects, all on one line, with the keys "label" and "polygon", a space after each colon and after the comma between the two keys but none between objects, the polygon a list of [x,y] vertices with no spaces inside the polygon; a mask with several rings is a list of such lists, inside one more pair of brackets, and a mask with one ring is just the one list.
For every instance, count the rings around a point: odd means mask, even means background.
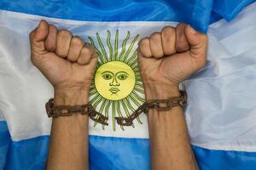
[{"label": "rusty broken chain around the wrist right of the sun", "polygon": [[137,110],[134,111],[130,116],[115,117],[115,119],[121,126],[131,126],[133,124],[133,120],[135,120],[137,116],[141,115],[142,113],[148,115],[149,109],[156,109],[157,111],[168,111],[175,106],[184,107],[187,104],[187,94],[184,91],[180,91],[180,94],[180,96],[170,99],[150,100],[138,107]]}]

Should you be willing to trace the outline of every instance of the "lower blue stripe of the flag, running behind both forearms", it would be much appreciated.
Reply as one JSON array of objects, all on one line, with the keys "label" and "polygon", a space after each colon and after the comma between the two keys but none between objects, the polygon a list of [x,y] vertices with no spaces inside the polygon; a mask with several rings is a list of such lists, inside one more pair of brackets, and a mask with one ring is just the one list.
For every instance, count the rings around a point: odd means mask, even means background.
[{"label": "lower blue stripe of the flag, running behind both forearms", "polygon": [[[48,146],[49,136],[11,141],[4,170],[43,170]],[[90,136],[89,146],[90,170],[150,169],[148,139]],[[6,149],[1,147],[2,159],[3,150]],[[197,146],[193,150],[201,170],[254,170],[256,167],[256,152],[207,150]],[[0,162],[3,167],[4,162]]]}]

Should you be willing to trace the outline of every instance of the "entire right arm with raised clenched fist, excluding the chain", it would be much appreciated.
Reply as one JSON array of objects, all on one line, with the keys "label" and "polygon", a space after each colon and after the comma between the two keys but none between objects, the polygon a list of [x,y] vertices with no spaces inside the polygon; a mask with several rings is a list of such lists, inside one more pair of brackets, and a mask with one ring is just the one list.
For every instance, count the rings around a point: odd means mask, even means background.
[{"label": "entire right arm with raised clenched fist, excluding the chain", "polygon": [[[138,45],[147,100],[179,96],[178,84],[206,64],[207,36],[188,25],[166,26]],[[181,107],[150,110],[148,130],[152,169],[198,169]]]}]

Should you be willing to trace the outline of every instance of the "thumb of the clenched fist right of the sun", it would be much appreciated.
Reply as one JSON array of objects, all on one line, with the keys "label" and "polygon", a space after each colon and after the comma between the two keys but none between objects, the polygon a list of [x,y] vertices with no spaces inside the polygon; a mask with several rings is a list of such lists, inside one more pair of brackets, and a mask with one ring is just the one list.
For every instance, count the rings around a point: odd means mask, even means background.
[{"label": "thumb of the clenched fist right of the sun", "polygon": [[184,29],[185,37],[189,42],[191,54],[198,55],[206,52],[207,35],[195,31],[191,26],[186,26]]}]

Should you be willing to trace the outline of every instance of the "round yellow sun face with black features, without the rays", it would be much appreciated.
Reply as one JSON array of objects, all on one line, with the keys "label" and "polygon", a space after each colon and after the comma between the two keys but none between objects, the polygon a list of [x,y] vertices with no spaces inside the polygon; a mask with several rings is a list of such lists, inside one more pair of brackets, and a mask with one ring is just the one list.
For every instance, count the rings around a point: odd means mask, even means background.
[{"label": "round yellow sun face with black features, without the rays", "polygon": [[134,88],[135,73],[123,62],[110,61],[97,69],[95,85],[105,99],[125,99]]}]

